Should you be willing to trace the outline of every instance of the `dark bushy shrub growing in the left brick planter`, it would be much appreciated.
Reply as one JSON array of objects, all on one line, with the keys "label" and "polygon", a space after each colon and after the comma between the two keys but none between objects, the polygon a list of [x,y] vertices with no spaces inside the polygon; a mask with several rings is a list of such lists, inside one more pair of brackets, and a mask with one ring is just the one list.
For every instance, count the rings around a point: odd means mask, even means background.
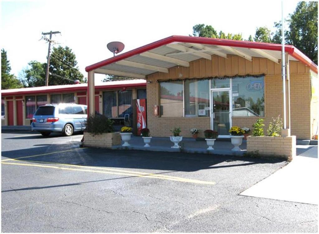
[{"label": "dark bushy shrub growing in the left brick planter", "polygon": [[91,133],[93,136],[114,132],[113,124],[114,121],[108,119],[105,115],[91,115],[86,121],[85,131]]}]

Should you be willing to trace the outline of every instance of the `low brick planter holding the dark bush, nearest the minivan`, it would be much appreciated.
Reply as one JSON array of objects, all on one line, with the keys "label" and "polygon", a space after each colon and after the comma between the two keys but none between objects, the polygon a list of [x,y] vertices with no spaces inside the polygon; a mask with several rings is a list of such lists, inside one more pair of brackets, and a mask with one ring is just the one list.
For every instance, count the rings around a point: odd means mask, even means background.
[{"label": "low brick planter holding the dark bush, nearest the minivan", "polygon": [[121,136],[119,132],[102,133],[100,135],[91,135],[84,132],[85,147],[111,148],[112,145],[120,145]]}]

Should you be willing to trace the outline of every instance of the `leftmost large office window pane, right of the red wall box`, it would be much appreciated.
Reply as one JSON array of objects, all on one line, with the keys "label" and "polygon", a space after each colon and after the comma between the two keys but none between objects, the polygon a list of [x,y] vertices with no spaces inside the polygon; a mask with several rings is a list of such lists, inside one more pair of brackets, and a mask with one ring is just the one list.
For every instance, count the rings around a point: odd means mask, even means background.
[{"label": "leftmost large office window pane, right of the red wall box", "polygon": [[162,117],[183,117],[183,82],[161,82],[160,114]]}]

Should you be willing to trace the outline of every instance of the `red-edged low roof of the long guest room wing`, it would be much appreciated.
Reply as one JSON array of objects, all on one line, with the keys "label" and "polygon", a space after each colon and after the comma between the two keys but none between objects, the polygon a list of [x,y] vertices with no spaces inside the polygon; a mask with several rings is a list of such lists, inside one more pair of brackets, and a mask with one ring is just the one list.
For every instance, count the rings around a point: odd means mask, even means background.
[{"label": "red-edged low roof of the long guest room wing", "polygon": [[[109,81],[109,82],[105,82],[105,84],[95,85],[95,90],[133,88],[133,87],[146,87],[146,81],[138,80],[138,79]],[[21,88],[21,89],[6,89],[6,90],[1,90],[1,96],[58,93],[58,92],[62,93],[62,92],[76,92],[76,91],[86,91],[86,90],[87,90],[87,84],[65,84],[65,85],[52,85],[52,86]]]}]

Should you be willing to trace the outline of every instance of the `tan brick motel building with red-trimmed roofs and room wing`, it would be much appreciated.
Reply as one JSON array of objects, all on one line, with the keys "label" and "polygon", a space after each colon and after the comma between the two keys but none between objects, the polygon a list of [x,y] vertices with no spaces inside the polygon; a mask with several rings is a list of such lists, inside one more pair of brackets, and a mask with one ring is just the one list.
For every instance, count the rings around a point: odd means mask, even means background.
[{"label": "tan brick motel building with red-trimmed roofs and room wing", "polygon": [[[87,104],[88,114],[122,118],[130,113],[134,119],[132,100],[146,95],[152,136],[167,137],[180,127],[184,137],[199,128],[199,137],[213,129],[227,138],[232,126],[252,129],[258,118],[265,120],[266,133],[272,117],[283,117],[286,110],[285,135],[312,139],[318,134],[317,65],[285,45],[283,82],[281,49],[279,44],[170,36],[87,66],[88,84],[2,91],[2,125],[29,125],[37,106],[59,102]],[[135,80],[95,86],[95,73]]]}]

